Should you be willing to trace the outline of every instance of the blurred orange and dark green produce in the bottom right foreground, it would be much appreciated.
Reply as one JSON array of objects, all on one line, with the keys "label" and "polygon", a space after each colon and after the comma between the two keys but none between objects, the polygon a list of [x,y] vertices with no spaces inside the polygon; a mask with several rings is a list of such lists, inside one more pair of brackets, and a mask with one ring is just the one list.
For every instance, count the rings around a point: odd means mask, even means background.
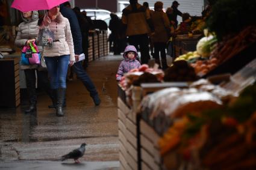
[{"label": "blurred orange and dark green produce in the bottom right foreground", "polygon": [[175,152],[177,165],[191,169],[256,169],[255,96],[253,85],[221,109],[189,112],[160,139],[160,153],[167,158]]}]

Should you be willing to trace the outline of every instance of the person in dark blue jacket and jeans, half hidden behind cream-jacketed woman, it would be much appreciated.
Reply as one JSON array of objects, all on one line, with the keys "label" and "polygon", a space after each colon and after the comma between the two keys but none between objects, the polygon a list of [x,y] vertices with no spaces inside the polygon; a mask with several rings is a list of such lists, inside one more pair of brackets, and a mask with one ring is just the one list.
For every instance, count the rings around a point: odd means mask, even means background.
[{"label": "person in dark blue jacket and jeans, half hidden behind cream-jacketed woman", "polygon": [[78,62],[79,55],[83,53],[83,47],[82,47],[81,30],[80,30],[80,26],[79,26],[77,17],[75,15],[75,12],[71,8],[64,7],[63,4],[60,5],[60,12],[64,17],[66,17],[69,20],[70,29],[72,32],[73,45],[75,49],[75,58],[76,58],[76,62],[72,66],[73,71],[76,73],[76,76],[79,79],[81,79],[81,81],[84,83],[84,86],[86,87],[87,91],[90,92],[90,96],[92,97],[93,102],[95,103],[96,106],[98,106],[101,103],[101,99],[99,99],[99,95],[95,88],[95,85],[93,85],[92,80],[84,70],[82,61]]}]

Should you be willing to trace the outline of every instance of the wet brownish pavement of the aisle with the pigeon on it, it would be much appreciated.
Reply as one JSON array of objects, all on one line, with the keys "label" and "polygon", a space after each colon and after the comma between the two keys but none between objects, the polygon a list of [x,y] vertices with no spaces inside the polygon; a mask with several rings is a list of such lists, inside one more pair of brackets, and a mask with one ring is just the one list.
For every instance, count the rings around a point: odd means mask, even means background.
[{"label": "wet brownish pavement of the aisle with the pigeon on it", "polygon": [[[0,108],[0,169],[119,169],[116,71],[122,56],[90,62],[87,73],[102,100],[95,106],[83,83],[67,82],[64,117],[48,109],[45,93],[37,112],[24,114],[27,105]],[[63,154],[86,142],[80,164],[60,162]]]}]

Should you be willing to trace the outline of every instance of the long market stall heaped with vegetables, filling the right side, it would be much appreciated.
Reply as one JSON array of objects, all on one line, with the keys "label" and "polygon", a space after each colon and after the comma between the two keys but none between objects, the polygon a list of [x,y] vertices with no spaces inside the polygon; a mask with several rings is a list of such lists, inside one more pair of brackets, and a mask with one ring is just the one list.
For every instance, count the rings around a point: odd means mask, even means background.
[{"label": "long market stall heaped with vegetables, filling the right side", "polygon": [[[195,51],[178,56],[164,72],[142,65],[120,81],[125,105],[139,118],[138,169],[256,169],[255,3],[228,2],[213,6]],[[216,23],[230,7],[244,9],[240,15],[249,21],[222,29],[226,25]],[[242,20],[234,13],[225,17]],[[135,106],[133,96],[141,99]]]}]

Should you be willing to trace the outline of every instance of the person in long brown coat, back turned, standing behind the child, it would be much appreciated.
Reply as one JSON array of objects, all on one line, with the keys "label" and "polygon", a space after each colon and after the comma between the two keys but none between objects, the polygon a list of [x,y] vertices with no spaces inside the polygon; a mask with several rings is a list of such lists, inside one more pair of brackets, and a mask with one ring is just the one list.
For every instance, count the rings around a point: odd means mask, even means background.
[{"label": "person in long brown coat, back turned, standing behind the child", "polygon": [[152,14],[152,22],[155,28],[155,34],[152,36],[154,42],[155,62],[160,65],[159,52],[161,53],[161,68],[167,68],[166,62],[166,43],[169,39],[170,22],[167,14],[163,11],[163,2],[155,2],[155,11]]}]

